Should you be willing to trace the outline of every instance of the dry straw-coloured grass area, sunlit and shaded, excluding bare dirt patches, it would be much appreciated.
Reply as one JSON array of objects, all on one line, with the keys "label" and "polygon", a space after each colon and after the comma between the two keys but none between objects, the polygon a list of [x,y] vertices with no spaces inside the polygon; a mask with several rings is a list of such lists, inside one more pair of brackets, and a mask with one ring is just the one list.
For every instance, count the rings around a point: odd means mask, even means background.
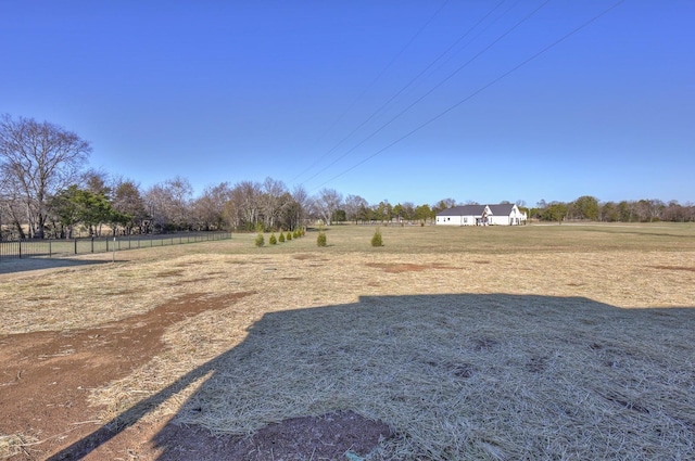
[{"label": "dry straw-coloured grass area, sunlit and shaded, excluding bare dirt patches", "polygon": [[144,422],[249,434],[353,410],[395,433],[374,459],[695,458],[694,226],[389,226],[372,248],[375,229],[0,274],[0,335],[253,292],[170,326],[92,390],[99,418],[180,382]]}]

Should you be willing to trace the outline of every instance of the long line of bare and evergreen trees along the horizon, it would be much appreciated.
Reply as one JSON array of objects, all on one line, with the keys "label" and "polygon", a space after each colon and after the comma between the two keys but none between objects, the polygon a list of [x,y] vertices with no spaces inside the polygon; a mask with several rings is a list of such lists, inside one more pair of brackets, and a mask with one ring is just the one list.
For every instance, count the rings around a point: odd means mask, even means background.
[{"label": "long line of bare and evergreen trees along the horizon", "polygon": [[[142,189],[134,179],[87,168],[92,148],[76,133],[31,118],[0,117],[0,239],[71,239],[76,234],[155,233],[181,230],[294,230],[307,220],[332,222],[432,221],[459,205],[389,201],[369,204],[334,189],[309,195],[279,180],[222,182],[200,196],[186,178]],[[472,202],[468,202],[471,204]],[[599,203],[582,196],[571,203],[517,204],[531,218],[547,221],[693,221],[695,206],[657,200]]]}]

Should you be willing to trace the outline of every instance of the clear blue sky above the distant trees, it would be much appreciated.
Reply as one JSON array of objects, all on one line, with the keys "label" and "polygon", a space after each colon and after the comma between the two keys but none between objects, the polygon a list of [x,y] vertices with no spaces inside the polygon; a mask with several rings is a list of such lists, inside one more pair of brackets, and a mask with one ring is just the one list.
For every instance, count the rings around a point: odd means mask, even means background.
[{"label": "clear blue sky above the distant trees", "polygon": [[695,201],[695,2],[611,4],[2,1],[0,113],[197,195]]}]

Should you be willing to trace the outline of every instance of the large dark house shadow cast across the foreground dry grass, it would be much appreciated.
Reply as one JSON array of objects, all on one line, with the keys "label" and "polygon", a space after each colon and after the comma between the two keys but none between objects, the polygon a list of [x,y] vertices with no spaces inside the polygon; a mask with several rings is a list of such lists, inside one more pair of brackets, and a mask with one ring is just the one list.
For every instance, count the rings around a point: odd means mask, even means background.
[{"label": "large dark house shadow cast across the foreground dry grass", "polygon": [[694,320],[693,308],[507,294],[269,312],[237,347],[50,460],[87,456],[202,377],[153,440],[159,459],[262,459],[172,434],[343,410],[391,426],[387,459],[693,459]]}]

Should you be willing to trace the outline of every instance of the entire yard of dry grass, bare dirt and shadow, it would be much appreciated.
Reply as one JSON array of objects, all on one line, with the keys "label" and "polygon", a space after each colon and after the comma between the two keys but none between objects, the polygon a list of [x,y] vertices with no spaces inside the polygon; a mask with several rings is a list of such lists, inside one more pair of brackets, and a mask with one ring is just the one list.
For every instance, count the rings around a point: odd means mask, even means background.
[{"label": "entire yard of dry grass, bare dirt and shadow", "polygon": [[0,459],[695,458],[694,226],[375,229],[0,260]]}]

